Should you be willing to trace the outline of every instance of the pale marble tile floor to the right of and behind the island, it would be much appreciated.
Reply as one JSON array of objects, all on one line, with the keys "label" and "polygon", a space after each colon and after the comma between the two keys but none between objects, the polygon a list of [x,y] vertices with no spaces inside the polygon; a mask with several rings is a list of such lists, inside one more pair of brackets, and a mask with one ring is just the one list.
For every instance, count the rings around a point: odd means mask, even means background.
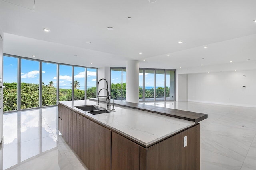
[{"label": "pale marble tile floor to the right of and behind the island", "polygon": [[256,170],[256,108],[196,102],[146,105],[208,114],[201,124],[201,170]]}]

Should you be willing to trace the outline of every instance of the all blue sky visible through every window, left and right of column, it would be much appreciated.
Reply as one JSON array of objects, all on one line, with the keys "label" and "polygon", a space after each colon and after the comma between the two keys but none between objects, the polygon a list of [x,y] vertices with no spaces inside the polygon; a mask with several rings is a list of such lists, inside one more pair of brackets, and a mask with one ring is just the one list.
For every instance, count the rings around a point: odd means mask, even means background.
[{"label": "all blue sky visible through every window, left and right of column", "polygon": [[[4,82],[17,82],[18,59],[4,56]],[[121,71],[111,71],[111,83],[121,83]],[[71,88],[72,67],[60,65],[60,88]],[[96,69],[87,69],[87,87],[96,86]],[[54,82],[56,87],[57,65],[52,63],[42,63],[42,82],[48,85]],[[80,89],[84,89],[85,69],[74,67],[74,80],[80,83]],[[27,59],[21,60],[21,81],[25,83],[39,83],[39,62]],[[126,71],[123,71],[123,83],[126,83]],[[143,86],[143,74],[139,75],[139,86]],[[146,70],[145,86],[154,87],[154,71]],[[156,87],[164,87],[164,74],[156,74]],[[169,76],[166,75],[166,86],[169,86]]]}]

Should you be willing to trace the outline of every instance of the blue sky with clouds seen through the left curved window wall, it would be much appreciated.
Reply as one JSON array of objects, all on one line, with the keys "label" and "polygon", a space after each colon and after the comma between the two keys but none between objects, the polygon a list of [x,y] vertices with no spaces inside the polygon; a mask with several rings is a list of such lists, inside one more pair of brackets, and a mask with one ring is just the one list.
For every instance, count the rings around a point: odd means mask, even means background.
[{"label": "blue sky with clouds seen through the left curved window wall", "polygon": [[[18,59],[4,56],[4,82],[17,82]],[[96,69],[87,69],[87,87],[96,86]],[[42,82],[48,85],[54,82],[56,87],[57,65],[42,63]],[[60,65],[60,87],[69,89],[71,87],[72,67]],[[80,83],[80,89],[84,89],[85,68],[74,67],[74,80]],[[21,81],[24,83],[39,83],[39,62],[21,59]]]}]

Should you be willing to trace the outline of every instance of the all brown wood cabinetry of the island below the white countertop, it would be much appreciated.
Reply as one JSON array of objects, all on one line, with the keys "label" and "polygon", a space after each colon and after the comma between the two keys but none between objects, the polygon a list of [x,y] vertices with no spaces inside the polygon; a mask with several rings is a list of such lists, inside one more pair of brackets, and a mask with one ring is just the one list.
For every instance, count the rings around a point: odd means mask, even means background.
[{"label": "all brown wood cabinetry of the island below the white countertop", "polygon": [[90,170],[200,170],[200,124],[145,148],[62,105],[58,113],[62,136]]}]

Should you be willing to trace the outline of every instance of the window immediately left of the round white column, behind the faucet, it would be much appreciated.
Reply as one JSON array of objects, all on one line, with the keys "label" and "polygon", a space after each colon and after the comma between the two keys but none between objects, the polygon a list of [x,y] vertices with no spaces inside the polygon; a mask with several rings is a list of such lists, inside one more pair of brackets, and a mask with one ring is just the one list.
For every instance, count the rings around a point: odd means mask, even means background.
[{"label": "window immediately left of the round white column, behind the faucet", "polygon": [[110,68],[110,90],[116,100],[126,99],[126,69]]}]

